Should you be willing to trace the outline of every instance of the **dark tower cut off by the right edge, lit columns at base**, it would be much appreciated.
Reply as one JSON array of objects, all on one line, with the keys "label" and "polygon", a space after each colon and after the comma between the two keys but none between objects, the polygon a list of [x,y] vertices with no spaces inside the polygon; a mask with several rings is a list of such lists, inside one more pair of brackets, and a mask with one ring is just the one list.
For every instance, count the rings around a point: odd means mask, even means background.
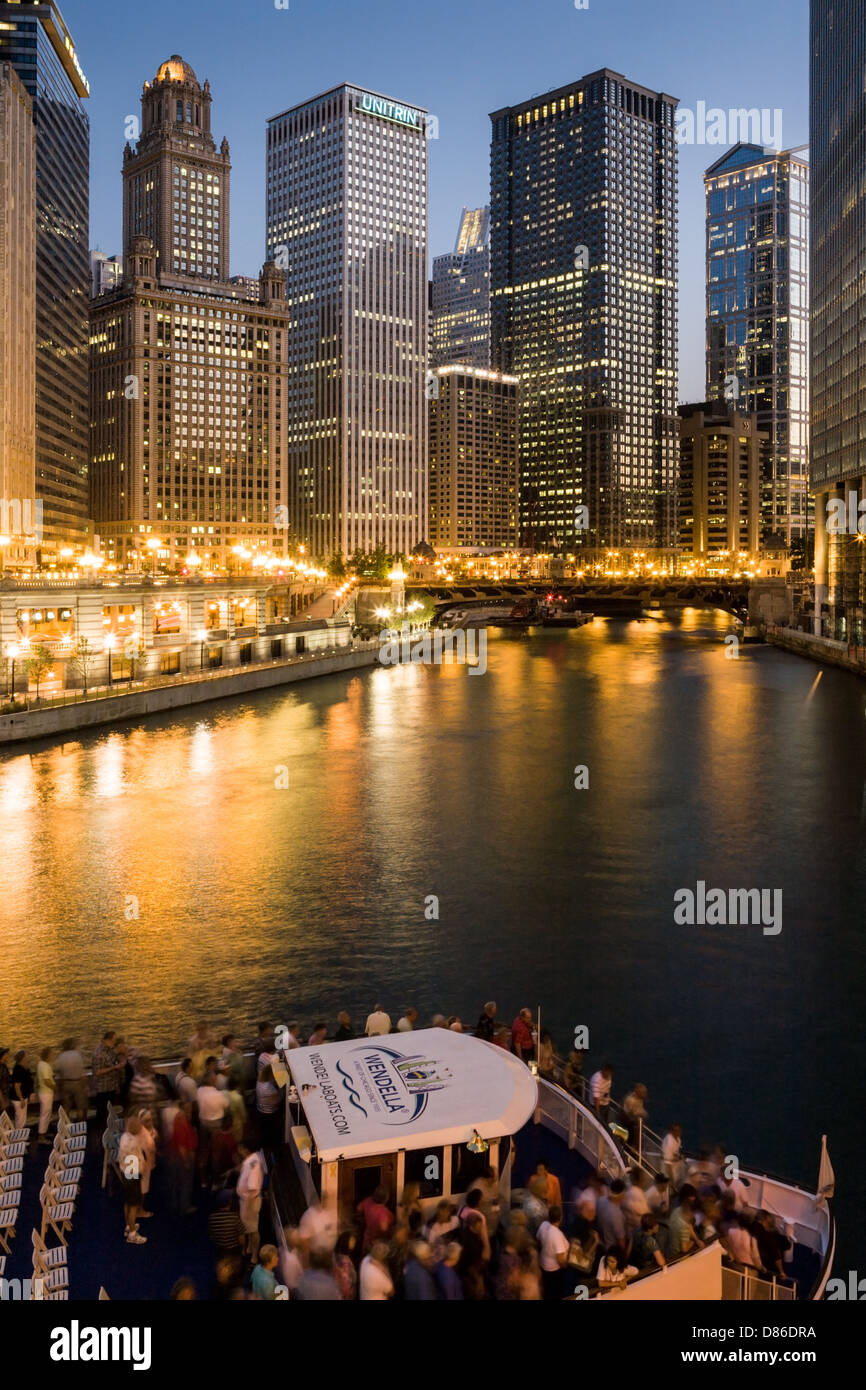
[{"label": "dark tower cut off by the right edge, lit columns at base", "polygon": [[866,546],[858,543],[856,520],[840,525],[830,506],[841,502],[856,518],[866,498],[863,0],[812,0],[809,47],[815,631],[863,642]]}]

